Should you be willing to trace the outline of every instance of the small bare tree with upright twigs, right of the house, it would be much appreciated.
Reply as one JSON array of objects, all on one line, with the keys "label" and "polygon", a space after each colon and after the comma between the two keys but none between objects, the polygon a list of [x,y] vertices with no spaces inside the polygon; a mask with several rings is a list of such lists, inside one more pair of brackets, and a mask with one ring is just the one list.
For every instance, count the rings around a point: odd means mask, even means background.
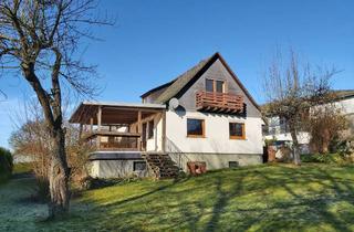
[{"label": "small bare tree with upright twigs, right of the house", "polygon": [[312,106],[327,103],[332,92],[331,77],[335,68],[316,67],[309,63],[299,64],[298,55],[290,51],[289,60],[283,60],[278,51],[264,74],[263,92],[268,104],[263,107],[266,116],[284,118],[293,143],[293,161],[300,165],[298,135],[309,119]]}]

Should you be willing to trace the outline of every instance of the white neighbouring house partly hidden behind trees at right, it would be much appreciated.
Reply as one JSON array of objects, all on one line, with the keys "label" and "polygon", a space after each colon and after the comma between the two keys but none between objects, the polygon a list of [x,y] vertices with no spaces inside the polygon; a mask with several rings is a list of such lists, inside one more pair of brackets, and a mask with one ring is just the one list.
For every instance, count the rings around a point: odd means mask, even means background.
[{"label": "white neighbouring house partly hidden behind trees at right", "polygon": [[[336,98],[334,107],[340,109],[346,116],[350,128],[348,133],[354,136],[354,89],[353,91],[335,91]],[[291,144],[292,138],[285,119],[279,116],[269,117],[268,124],[263,126],[263,139],[275,140],[279,145]],[[311,136],[306,131],[298,134],[298,140],[301,146],[302,154],[309,154]]]}]

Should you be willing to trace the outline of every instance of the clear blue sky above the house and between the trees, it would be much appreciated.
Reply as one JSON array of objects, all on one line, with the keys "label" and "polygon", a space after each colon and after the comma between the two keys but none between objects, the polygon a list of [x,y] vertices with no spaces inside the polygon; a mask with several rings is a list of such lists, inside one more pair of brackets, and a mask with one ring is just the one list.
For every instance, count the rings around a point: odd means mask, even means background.
[{"label": "clear blue sky above the house and between the trees", "polygon": [[[138,102],[145,91],[220,52],[259,103],[261,75],[277,46],[293,48],[312,64],[342,70],[334,88],[354,88],[352,0],[102,0],[117,15],[114,28],[97,28],[103,42],[83,43],[98,64],[104,87],[97,99]],[[0,146],[8,147],[10,115],[33,93],[21,78],[2,74]]]}]

